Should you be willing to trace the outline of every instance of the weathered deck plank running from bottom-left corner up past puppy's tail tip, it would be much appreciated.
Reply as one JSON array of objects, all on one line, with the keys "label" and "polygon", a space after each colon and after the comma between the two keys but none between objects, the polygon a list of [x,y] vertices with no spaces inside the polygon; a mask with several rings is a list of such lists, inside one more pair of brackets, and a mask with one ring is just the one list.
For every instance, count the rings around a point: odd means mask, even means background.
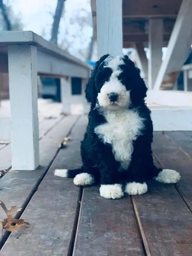
[{"label": "weathered deck plank running from bottom-left corner up past puppy's tail tip", "polygon": [[72,179],[61,179],[53,176],[53,172],[56,168],[80,167],[80,140],[86,124],[87,118],[81,117],[78,120],[71,133],[72,141],[66,149],[59,151],[22,214],[22,218],[31,223],[30,228],[20,230],[17,234],[12,233],[1,251],[2,256],[13,250],[15,256],[68,255],[73,242],[73,228],[77,224],[76,210],[82,189],[79,190]]}]

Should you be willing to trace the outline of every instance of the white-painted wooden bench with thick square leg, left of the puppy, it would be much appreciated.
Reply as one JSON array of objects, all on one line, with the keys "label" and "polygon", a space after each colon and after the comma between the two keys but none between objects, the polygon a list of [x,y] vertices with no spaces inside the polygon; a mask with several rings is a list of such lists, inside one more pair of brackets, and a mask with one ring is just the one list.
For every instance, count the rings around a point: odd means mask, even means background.
[{"label": "white-painted wooden bench with thick square leg, left of the puppy", "polygon": [[83,93],[72,96],[70,81],[80,77],[85,85],[90,66],[31,31],[1,32],[0,72],[9,73],[12,169],[34,170],[39,165],[37,74],[62,77],[63,111],[69,113],[72,102],[87,108]]}]

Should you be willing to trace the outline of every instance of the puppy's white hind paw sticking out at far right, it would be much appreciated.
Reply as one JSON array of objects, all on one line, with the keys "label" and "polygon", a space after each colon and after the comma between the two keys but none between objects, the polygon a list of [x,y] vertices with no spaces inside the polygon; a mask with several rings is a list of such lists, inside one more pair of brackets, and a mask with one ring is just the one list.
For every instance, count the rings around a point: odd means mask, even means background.
[{"label": "puppy's white hind paw sticking out at far right", "polygon": [[163,169],[159,172],[158,176],[155,177],[156,181],[162,183],[177,183],[180,179],[180,173],[171,169]]}]

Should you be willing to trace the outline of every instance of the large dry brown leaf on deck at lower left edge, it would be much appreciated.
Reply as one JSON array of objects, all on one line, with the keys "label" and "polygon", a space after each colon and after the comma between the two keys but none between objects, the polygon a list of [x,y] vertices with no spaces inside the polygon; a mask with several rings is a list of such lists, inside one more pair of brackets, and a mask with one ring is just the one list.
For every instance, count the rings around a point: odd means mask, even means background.
[{"label": "large dry brown leaf on deck at lower left edge", "polygon": [[28,227],[30,224],[29,222],[25,222],[23,219],[15,219],[12,218],[13,213],[17,213],[22,210],[22,208],[16,209],[16,206],[11,206],[11,208],[8,210],[6,205],[0,200],[0,205],[5,211],[7,218],[3,221],[0,220],[0,226],[2,227],[2,230],[7,230],[10,232],[17,232],[20,230],[21,227]]}]

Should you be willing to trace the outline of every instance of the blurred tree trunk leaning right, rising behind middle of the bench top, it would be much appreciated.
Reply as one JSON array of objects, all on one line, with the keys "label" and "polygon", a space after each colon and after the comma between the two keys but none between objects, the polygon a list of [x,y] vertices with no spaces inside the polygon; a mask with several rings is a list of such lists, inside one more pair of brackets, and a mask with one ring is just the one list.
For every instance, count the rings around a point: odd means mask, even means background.
[{"label": "blurred tree trunk leaning right, rising behind middle of the bench top", "polygon": [[61,20],[61,15],[62,15],[63,6],[64,6],[65,1],[66,0],[58,0],[57,7],[56,7],[56,12],[55,12],[54,18],[53,18],[50,42],[52,42],[53,44],[56,44],[56,45],[58,43],[59,23],[60,23],[60,20]]}]

